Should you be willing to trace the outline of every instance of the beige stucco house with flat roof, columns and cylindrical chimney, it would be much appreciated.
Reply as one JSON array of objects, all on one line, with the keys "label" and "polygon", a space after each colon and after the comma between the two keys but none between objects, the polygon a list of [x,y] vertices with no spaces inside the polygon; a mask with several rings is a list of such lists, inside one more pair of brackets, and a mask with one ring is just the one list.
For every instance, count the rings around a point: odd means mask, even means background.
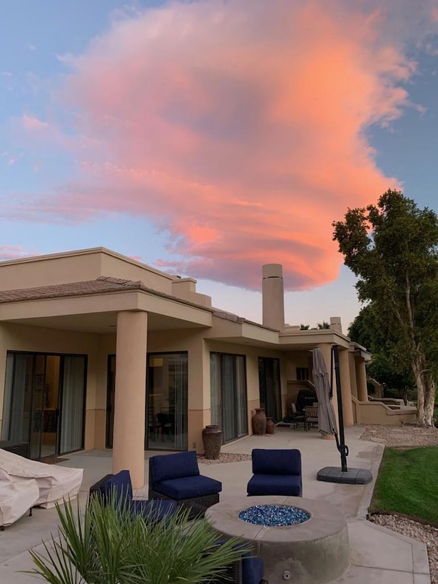
[{"label": "beige stucco house with flat roof, columns and cylindrical chimney", "polygon": [[202,452],[210,423],[236,440],[259,405],[281,420],[309,385],[309,350],[329,367],[333,344],[345,424],[369,421],[369,405],[386,415],[368,404],[370,355],[340,319],[285,325],[279,264],[263,266],[261,288],[258,324],[213,307],[194,279],[108,249],[0,262],[1,440],[27,442],[33,459],[112,448],[114,472],[139,487],[144,449]]}]

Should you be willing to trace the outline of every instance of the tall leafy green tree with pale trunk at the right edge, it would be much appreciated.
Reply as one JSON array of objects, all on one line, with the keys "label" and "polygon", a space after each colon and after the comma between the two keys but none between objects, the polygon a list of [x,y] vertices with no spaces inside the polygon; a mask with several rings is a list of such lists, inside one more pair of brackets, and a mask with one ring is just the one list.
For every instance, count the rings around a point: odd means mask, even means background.
[{"label": "tall leafy green tree with pale trunk at the right edge", "polygon": [[[398,190],[377,205],[348,209],[333,223],[344,263],[358,277],[361,302],[388,351],[409,364],[417,388],[417,423],[433,425],[438,374],[438,217]],[[400,366],[400,370],[402,370]]]}]

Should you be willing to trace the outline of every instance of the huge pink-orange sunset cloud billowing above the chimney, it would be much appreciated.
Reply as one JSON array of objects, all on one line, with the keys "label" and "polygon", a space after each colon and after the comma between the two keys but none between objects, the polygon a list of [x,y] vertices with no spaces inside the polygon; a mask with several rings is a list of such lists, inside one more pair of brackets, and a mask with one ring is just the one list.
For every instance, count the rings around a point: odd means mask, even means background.
[{"label": "huge pink-orange sunset cloud billowing above the chimney", "polygon": [[289,289],[335,279],[332,220],[398,184],[366,130],[413,107],[402,41],[425,31],[400,3],[173,2],[114,19],[62,58],[80,174],[33,211],[155,218],[177,257],[157,265],[194,277],[258,288],[261,264],[281,262]]}]

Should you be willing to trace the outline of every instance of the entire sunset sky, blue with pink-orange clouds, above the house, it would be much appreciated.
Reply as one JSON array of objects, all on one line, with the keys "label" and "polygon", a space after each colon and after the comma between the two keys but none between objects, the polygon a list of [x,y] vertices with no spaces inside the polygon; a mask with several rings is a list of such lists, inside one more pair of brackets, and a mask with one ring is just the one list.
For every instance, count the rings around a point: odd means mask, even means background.
[{"label": "entire sunset sky, blue with pink-orange clouds, above the house", "polygon": [[359,312],[333,242],[438,211],[438,0],[0,3],[0,259],[105,246],[261,322]]}]

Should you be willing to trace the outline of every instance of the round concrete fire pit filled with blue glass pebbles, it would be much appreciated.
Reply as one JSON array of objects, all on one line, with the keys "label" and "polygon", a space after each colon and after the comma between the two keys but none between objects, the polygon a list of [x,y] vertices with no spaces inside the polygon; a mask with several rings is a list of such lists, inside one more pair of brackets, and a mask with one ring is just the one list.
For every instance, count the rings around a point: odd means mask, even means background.
[{"label": "round concrete fire pit filled with blue glass pebbles", "polygon": [[337,507],[324,501],[239,497],[213,505],[205,516],[222,536],[242,537],[253,545],[255,554],[263,559],[264,576],[270,584],[289,579],[326,584],[350,566],[346,520]]}]

